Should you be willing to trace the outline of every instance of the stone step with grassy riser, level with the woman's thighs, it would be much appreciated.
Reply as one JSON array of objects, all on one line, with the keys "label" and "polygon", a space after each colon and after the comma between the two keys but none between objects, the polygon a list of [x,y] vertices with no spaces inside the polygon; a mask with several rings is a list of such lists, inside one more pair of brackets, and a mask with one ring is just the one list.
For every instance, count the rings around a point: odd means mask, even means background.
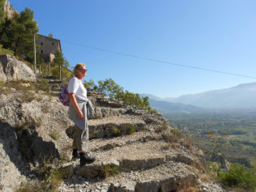
[{"label": "stone step with grassy riser, level with the woman's thighs", "polygon": [[110,138],[145,130],[145,122],[129,116],[92,119],[88,123],[89,139]]}]

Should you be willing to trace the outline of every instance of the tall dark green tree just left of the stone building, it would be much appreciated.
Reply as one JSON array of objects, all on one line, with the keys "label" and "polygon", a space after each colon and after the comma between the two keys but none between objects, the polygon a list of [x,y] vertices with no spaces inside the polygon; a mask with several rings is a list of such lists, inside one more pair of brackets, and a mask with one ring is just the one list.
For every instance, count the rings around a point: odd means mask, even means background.
[{"label": "tall dark green tree just left of the stone building", "polygon": [[20,14],[15,14],[11,28],[13,41],[11,49],[15,55],[24,56],[29,62],[33,62],[33,36],[38,32],[37,22],[33,19],[33,11],[25,8]]}]

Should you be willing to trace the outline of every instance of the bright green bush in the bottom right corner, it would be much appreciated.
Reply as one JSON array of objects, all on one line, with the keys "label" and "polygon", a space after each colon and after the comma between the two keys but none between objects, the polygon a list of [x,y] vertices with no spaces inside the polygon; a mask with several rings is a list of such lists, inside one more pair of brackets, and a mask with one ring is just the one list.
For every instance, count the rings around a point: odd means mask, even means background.
[{"label": "bright green bush in the bottom right corner", "polygon": [[256,169],[249,169],[244,164],[231,164],[228,172],[219,174],[220,181],[229,187],[240,187],[254,191],[256,187]]}]

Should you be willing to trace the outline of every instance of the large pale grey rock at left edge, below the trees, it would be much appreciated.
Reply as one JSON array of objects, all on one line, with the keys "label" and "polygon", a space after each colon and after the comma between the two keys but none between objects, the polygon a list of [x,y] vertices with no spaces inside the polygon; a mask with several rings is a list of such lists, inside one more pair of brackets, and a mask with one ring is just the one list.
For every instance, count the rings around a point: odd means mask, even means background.
[{"label": "large pale grey rock at left edge, below the trees", "polygon": [[36,81],[36,75],[24,62],[11,55],[0,55],[0,81]]}]

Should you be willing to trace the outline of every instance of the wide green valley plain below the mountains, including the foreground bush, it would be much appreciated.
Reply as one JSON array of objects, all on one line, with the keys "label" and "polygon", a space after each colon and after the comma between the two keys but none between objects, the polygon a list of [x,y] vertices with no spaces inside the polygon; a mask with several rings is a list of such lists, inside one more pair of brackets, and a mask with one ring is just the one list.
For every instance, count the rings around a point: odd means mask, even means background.
[{"label": "wide green valley plain below the mountains, including the foreground bush", "polygon": [[[254,191],[256,188],[256,113],[228,111],[166,115],[172,126],[178,127],[206,154],[208,172],[234,191]],[[220,169],[218,155],[230,164],[228,171]],[[215,161],[215,162],[213,162]],[[239,163],[239,164],[238,164]]]}]

